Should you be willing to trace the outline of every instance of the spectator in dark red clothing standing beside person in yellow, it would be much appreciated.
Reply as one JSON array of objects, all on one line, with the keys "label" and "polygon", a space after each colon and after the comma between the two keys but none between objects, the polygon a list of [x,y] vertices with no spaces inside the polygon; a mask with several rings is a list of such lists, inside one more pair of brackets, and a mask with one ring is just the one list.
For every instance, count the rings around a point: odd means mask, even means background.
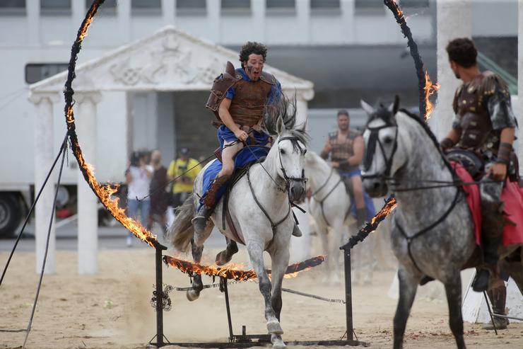
[{"label": "spectator in dark red clothing standing beside person in yellow", "polygon": [[158,222],[162,227],[163,234],[167,231],[165,227],[165,211],[168,205],[168,193],[165,188],[168,185],[167,168],[161,164],[162,155],[160,151],[153,150],[151,153],[151,167],[153,177],[150,185],[151,214],[149,214],[148,229],[153,227],[153,222]]}]

